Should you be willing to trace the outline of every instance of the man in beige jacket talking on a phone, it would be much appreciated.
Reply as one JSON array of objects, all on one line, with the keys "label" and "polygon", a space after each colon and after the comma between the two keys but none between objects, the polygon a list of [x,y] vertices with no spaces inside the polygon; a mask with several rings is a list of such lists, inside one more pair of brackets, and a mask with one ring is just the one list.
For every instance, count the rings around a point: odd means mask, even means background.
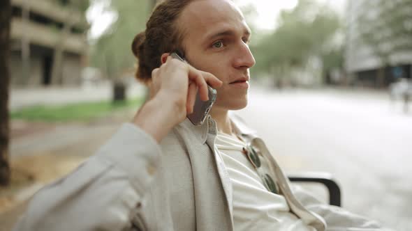
[{"label": "man in beige jacket talking on a phone", "polygon": [[[247,106],[250,35],[230,0],[157,6],[133,41],[137,77],[152,99],[134,125],[36,193],[16,230],[378,230],[293,193],[263,141],[229,115]],[[170,58],[174,51],[190,65]],[[207,99],[205,82],[218,97],[211,117],[194,126],[184,118],[197,89]]]}]

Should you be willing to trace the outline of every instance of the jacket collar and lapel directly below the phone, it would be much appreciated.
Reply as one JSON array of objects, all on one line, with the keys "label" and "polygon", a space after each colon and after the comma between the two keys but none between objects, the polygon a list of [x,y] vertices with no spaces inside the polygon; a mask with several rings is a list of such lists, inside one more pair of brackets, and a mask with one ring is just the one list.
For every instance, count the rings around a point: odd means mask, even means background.
[{"label": "jacket collar and lapel directly below the phone", "polygon": [[186,119],[176,129],[191,162],[197,230],[233,230],[230,178],[214,150],[216,123],[209,117],[195,126]]}]

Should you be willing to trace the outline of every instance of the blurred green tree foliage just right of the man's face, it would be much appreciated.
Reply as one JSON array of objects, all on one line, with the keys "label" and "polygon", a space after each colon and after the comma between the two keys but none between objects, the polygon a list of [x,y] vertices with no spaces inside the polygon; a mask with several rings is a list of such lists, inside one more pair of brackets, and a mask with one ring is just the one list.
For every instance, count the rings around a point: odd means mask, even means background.
[{"label": "blurred green tree foliage just right of the man's face", "polygon": [[253,72],[284,74],[304,67],[313,56],[341,56],[337,54],[339,46],[331,45],[339,28],[339,17],[333,10],[316,1],[300,0],[293,10],[281,12],[279,27],[273,33],[251,45],[256,58]]}]

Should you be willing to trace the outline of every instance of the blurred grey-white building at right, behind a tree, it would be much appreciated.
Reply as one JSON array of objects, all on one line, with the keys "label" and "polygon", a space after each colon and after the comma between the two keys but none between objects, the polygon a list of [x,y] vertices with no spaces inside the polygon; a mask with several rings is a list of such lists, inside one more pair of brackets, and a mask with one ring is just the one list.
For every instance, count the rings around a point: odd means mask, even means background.
[{"label": "blurred grey-white building at right, behind a tree", "polygon": [[412,77],[412,2],[348,0],[346,72],[356,86]]}]

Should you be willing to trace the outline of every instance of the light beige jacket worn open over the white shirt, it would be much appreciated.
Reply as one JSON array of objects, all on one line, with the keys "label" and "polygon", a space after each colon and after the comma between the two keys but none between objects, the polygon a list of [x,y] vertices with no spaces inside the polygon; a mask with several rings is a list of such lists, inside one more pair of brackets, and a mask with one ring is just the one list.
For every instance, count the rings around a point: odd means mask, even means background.
[{"label": "light beige jacket worn open over the white shirt", "polygon": [[[326,223],[327,230],[378,230],[304,191],[292,193],[263,141],[232,119],[265,154],[290,209],[305,223],[317,230]],[[200,127],[185,120],[158,145],[126,123],[73,173],[38,191],[15,230],[233,230],[232,187],[214,149],[216,132],[212,118]]]}]

